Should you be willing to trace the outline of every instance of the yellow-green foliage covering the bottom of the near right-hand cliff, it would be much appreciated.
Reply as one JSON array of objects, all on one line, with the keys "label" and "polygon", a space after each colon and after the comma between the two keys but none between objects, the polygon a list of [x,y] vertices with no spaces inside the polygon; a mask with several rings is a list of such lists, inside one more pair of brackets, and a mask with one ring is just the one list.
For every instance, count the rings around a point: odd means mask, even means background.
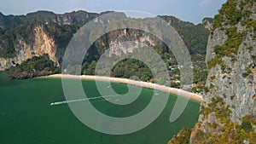
[{"label": "yellow-green foliage covering the bottom of the near right-hand cliff", "polygon": [[[241,125],[230,121],[230,109],[224,107],[224,101],[222,98],[212,98],[212,102],[207,107],[201,106],[201,114],[203,119],[208,118],[208,114],[214,112],[218,123],[207,123],[207,127],[213,130],[212,133],[204,134],[201,130],[196,130],[193,142],[195,143],[243,143],[243,141],[249,141],[255,143],[256,133],[253,129],[253,125],[256,124],[255,118],[251,115],[247,115],[242,118]],[[200,124],[200,123],[198,123]],[[214,132],[214,130],[217,130]],[[208,138],[205,139],[204,137]]]}]

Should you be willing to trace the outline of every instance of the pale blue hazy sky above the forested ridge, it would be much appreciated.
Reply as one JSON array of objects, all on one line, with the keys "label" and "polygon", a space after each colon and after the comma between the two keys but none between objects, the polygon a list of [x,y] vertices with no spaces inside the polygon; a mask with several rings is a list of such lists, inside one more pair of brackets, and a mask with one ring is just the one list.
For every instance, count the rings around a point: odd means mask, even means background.
[{"label": "pale blue hazy sky above the forested ridge", "polygon": [[107,10],[138,10],[154,15],[172,15],[198,24],[205,17],[218,14],[226,0],[0,0],[3,14],[27,14],[49,10],[56,14],[85,10],[100,13]]}]

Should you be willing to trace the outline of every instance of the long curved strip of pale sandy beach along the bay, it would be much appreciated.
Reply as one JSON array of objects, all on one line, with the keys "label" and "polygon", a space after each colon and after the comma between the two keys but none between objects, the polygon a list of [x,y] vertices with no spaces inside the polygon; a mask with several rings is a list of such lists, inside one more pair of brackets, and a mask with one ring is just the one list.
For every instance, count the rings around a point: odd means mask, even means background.
[{"label": "long curved strip of pale sandy beach along the bay", "polygon": [[91,75],[76,76],[76,75],[69,75],[69,74],[53,74],[53,75],[44,76],[41,78],[70,78],[70,79],[83,79],[83,80],[110,81],[110,82],[119,83],[119,84],[131,84],[131,85],[134,85],[137,87],[142,87],[142,88],[157,89],[157,90],[164,91],[167,93],[172,93],[174,95],[181,95],[183,97],[190,96],[189,98],[193,99],[195,101],[199,101],[199,102],[203,101],[203,98],[201,95],[197,95],[195,93],[190,93],[183,89],[176,89],[176,88],[172,88],[172,87],[167,87],[165,85],[152,84],[152,83],[148,83],[148,82],[136,81],[136,80],[131,80],[131,79],[127,79],[127,78],[111,78],[111,77],[91,76]]}]

